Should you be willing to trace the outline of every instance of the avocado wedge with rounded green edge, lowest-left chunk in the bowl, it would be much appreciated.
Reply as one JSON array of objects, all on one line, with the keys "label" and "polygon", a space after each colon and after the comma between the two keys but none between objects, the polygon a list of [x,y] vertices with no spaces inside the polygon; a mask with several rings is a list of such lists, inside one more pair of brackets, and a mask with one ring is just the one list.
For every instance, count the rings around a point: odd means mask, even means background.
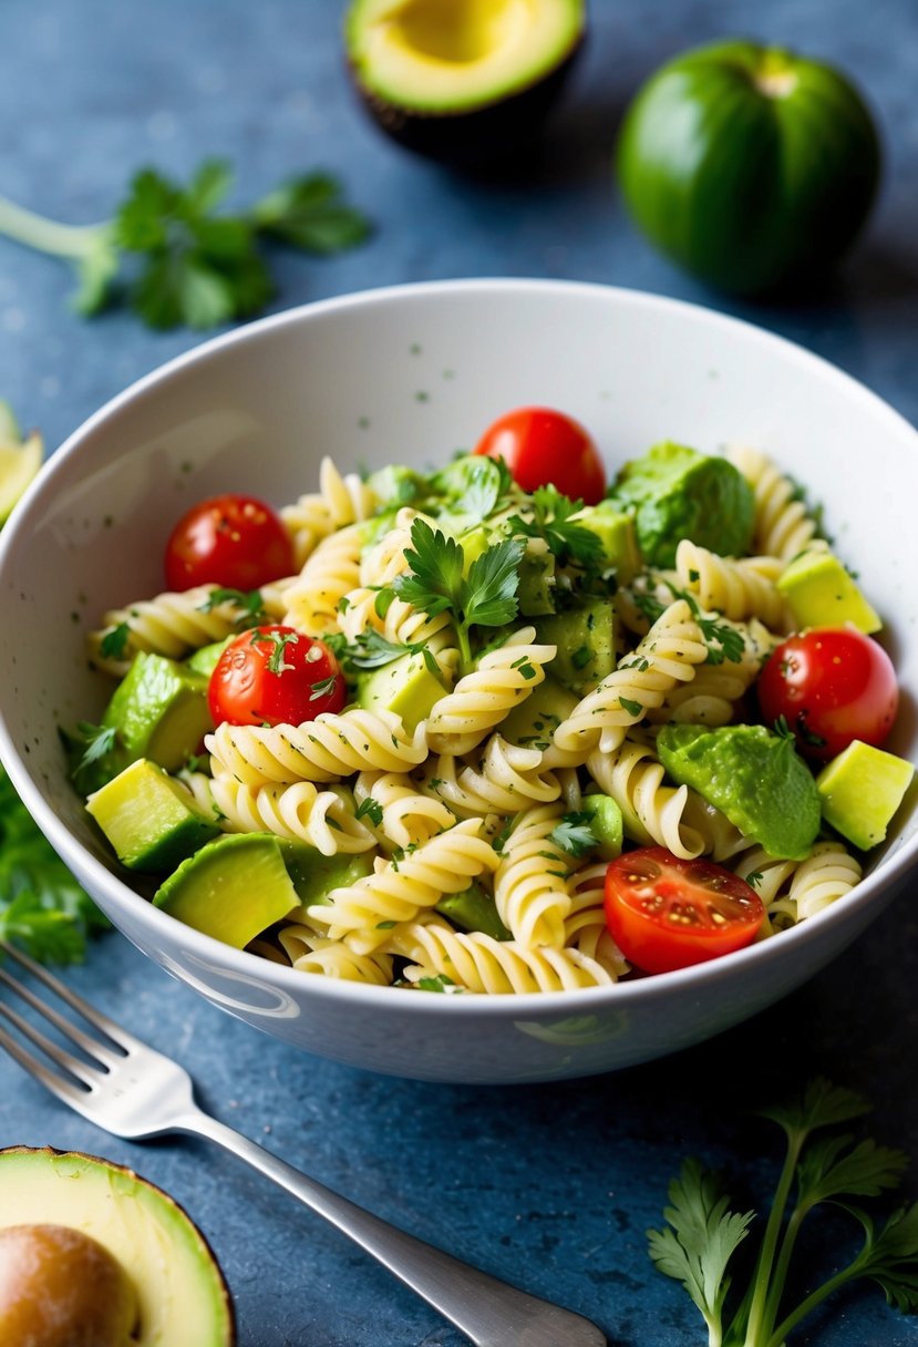
[{"label": "avocado wedge with rounded green edge, lowest-left chunk in the bowl", "polygon": [[237,950],[299,904],[280,841],[236,832],[207,842],[160,884],[153,904]]}]

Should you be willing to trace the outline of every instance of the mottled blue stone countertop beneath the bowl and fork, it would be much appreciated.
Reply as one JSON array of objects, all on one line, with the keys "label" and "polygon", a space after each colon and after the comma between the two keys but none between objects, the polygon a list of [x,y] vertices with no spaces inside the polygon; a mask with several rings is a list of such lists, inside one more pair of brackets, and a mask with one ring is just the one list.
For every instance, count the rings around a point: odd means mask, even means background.
[{"label": "mottled blue stone countertop beneath the bowl and fork", "polygon": [[[0,193],[69,222],[105,218],[132,172],[237,167],[238,201],[326,167],[376,221],[334,259],[277,252],[275,308],[455,276],[610,282],[720,308],[835,361],[918,422],[918,8],[915,0],[594,0],[592,38],[542,155],[518,180],[474,180],[401,151],[365,117],[335,0],[3,0]],[[656,65],[731,34],[843,66],[886,147],[870,230],[832,290],[802,306],[724,300],[629,224],[610,172],[622,108]],[[0,396],[48,451],[201,334],[69,311],[70,276],[0,240]],[[385,1079],[296,1053],[222,1014],[118,933],[67,981],[195,1076],[202,1102],[382,1216],[594,1319],[623,1347],[691,1347],[704,1325],[646,1254],[685,1154],[726,1165],[751,1200],[777,1177],[778,1133],[751,1115],[813,1074],[876,1100],[875,1131],[918,1154],[918,939],[906,893],[859,944],[758,1018],[674,1057],[563,1084]],[[127,1162],[205,1230],[242,1347],[455,1347],[464,1339],[292,1199],[203,1142],[131,1145],[0,1057],[0,1144]],[[906,1180],[918,1196],[918,1175]],[[825,1254],[831,1259],[831,1251]],[[831,1303],[791,1343],[918,1343],[876,1288]],[[12,1347],[12,1344],[9,1344]],[[561,1344],[559,1344],[561,1347]]]}]

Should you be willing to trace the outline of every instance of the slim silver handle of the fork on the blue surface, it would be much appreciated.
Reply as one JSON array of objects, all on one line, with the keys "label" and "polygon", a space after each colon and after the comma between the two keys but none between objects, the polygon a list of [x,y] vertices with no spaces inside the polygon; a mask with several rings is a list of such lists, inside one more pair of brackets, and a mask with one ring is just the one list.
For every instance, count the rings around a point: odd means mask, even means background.
[{"label": "slim silver handle of the fork on the blue surface", "polygon": [[198,1109],[175,1127],[215,1141],[285,1188],[394,1273],[475,1347],[606,1347],[599,1328],[405,1234]]}]

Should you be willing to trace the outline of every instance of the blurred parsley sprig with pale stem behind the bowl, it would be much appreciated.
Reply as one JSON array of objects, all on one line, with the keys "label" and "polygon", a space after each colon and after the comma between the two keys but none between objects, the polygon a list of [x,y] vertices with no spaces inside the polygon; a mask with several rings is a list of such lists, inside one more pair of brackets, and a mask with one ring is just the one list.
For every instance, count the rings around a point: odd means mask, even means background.
[{"label": "blurred parsley sprig with pale stem behind the bowl", "polygon": [[0,233],[69,260],[73,307],[83,317],[120,300],[149,327],[202,330],[249,318],[272,299],[265,240],[332,253],[370,232],[328,174],[291,178],[250,209],[225,213],[232,186],[222,159],[206,159],[186,186],[141,168],[104,224],[62,225],[0,198]]}]

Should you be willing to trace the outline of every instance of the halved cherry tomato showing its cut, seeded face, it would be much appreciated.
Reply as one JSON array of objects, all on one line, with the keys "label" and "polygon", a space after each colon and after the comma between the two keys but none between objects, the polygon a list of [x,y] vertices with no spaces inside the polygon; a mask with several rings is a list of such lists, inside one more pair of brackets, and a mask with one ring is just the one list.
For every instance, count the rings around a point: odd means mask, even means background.
[{"label": "halved cherry tomato showing its cut, seeded face", "polygon": [[672,973],[742,950],[763,920],[755,889],[713,861],[682,861],[649,846],[625,851],[606,870],[606,923],[643,973]]}]

